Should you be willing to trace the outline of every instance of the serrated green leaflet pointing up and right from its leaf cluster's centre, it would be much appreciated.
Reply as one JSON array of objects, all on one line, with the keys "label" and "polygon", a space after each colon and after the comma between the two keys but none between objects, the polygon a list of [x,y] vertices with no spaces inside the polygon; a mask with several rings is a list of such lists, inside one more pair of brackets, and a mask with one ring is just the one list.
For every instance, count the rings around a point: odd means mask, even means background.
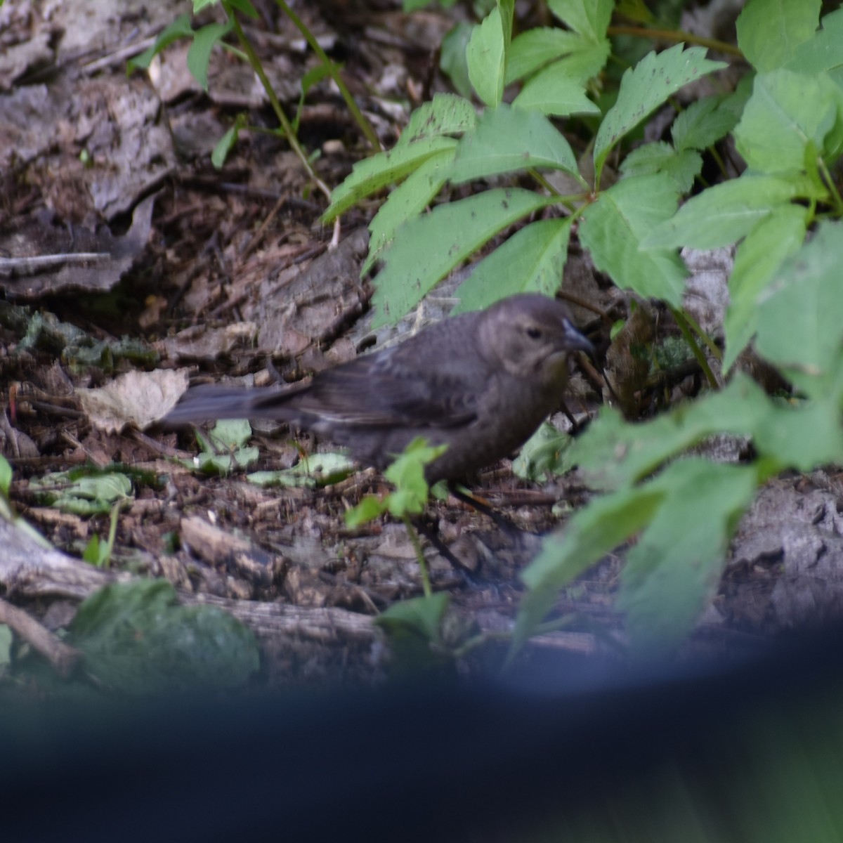
[{"label": "serrated green leaflet pointing up and right from its leaf cluster's centre", "polygon": [[636,67],[624,73],[618,99],[604,117],[594,140],[594,169],[598,182],[606,157],[626,132],[686,84],[726,67],[723,62],[706,59],[702,47],[685,50],[684,46],[677,44],[662,53],[647,53]]}]

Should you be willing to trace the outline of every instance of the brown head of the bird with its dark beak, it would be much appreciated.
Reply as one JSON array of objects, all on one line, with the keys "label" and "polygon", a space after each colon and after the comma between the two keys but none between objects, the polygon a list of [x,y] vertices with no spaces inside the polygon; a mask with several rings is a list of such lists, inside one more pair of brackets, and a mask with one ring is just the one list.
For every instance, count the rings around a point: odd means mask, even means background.
[{"label": "brown head of the bird with its dark beak", "polygon": [[566,305],[540,293],[493,304],[483,314],[480,332],[484,351],[516,377],[552,382],[564,377],[567,352],[594,352],[574,327]]}]

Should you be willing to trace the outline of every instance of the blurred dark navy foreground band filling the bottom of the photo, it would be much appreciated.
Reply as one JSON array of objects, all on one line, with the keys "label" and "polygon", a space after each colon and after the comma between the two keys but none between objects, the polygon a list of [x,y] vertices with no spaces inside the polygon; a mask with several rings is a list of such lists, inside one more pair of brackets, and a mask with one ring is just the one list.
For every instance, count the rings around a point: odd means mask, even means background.
[{"label": "blurred dark navy foreground band filling the bottom of the photo", "polygon": [[840,840],[843,630],[740,663],[60,705],[0,720],[24,840]]}]

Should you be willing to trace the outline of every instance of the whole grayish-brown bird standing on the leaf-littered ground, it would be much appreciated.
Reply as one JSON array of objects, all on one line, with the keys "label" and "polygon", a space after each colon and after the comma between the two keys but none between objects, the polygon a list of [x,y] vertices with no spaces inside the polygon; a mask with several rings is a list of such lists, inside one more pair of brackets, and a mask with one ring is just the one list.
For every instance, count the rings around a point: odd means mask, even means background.
[{"label": "whole grayish-brown bird standing on the leaf-littered ground", "polygon": [[284,388],[201,386],[164,421],[269,418],[384,468],[424,437],[448,449],[429,483],[459,480],[522,445],[561,402],[567,352],[592,352],[566,306],[523,293],[443,319],[396,346]]}]

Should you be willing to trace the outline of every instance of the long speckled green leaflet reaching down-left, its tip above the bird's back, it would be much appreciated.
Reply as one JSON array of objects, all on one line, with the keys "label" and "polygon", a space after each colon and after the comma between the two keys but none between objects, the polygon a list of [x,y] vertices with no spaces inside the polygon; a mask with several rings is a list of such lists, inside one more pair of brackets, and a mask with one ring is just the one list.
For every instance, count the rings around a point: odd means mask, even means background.
[{"label": "long speckled green leaflet reaching down-left, its tip above the bird's back", "polygon": [[396,322],[487,240],[553,201],[518,188],[486,191],[405,223],[375,280],[372,327]]}]

